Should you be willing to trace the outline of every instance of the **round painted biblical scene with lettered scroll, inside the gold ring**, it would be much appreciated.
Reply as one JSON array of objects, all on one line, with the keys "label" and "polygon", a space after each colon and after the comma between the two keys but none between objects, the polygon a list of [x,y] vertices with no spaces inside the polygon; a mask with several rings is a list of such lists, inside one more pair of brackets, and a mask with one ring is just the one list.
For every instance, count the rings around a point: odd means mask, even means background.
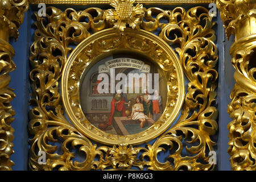
[{"label": "round painted biblical scene with lettered scroll, inside the gold ring", "polygon": [[147,58],[109,56],[86,72],[80,100],[95,127],[132,135],[158,121],[166,107],[167,86],[161,69]]}]

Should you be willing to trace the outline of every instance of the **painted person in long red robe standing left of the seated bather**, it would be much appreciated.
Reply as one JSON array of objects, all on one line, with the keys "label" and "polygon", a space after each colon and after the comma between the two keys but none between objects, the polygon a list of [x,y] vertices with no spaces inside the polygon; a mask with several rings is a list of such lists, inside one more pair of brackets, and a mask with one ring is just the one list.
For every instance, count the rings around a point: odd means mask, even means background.
[{"label": "painted person in long red robe standing left of the seated bather", "polygon": [[108,125],[111,125],[113,117],[126,116],[125,114],[125,99],[122,96],[122,90],[117,90],[117,94],[113,97],[111,101],[111,115],[108,121]]}]

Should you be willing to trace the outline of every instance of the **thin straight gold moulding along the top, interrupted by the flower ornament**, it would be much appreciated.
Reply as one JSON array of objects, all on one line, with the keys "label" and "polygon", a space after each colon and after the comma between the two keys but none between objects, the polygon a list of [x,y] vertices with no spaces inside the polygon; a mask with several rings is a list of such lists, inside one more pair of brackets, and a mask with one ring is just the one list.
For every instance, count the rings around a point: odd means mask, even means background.
[{"label": "thin straight gold moulding along the top, interrupted by the flower ornament", "polygon": [[[108,5],[109,0],[30,0],[31,4],[47,3],[47,4],[63,4],[63,5]],[[135,3],[143,3],[144,5],[181,5],[181,4],[199,4],[199,3],[215,3],[215,0],[136,0]]]}]

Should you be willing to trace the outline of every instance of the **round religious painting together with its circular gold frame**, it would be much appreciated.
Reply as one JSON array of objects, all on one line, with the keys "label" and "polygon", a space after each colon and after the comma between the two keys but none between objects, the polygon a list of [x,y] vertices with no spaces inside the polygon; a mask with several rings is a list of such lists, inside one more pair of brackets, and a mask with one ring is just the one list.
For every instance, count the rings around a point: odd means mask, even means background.
[{"label": "round religious painting together with its circular gold frame", "polygon": [[175,52],[147,31],[110,28],[81,42],[61,80],[73,125],[104,144],[147,142],[175,121],[184,100]]}]

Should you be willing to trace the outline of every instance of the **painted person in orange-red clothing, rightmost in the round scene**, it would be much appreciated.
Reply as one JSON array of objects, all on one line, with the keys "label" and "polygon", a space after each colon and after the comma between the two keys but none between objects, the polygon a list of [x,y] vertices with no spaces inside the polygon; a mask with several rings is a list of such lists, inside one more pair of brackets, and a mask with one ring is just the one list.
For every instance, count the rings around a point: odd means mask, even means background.
[{"label": "painted person in orange-red clothing, rightmost in the round scene", "polygon": [[158,121],[162,113],[162,97],[159,95],[158,90],[155,90],[154,96],[152,99],[153,107],[153,120]]}]

